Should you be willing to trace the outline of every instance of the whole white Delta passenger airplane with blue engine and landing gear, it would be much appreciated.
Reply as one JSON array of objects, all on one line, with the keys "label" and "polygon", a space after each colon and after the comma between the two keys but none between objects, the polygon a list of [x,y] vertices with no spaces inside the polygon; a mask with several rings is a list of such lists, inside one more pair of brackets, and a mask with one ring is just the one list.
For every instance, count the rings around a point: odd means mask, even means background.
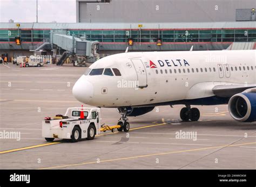
[{"label": "whole white Delta passenger airplane with blue engine and landing gear", "polygon": [[256,121],[256,50],[126,52],[93,63],[77,80],[73,96],[87,105],[117,108],[118,131],[127,116],[156,106],[185,105],[183,121],[198,121],[191,105],[228,105],[240,122]]}]

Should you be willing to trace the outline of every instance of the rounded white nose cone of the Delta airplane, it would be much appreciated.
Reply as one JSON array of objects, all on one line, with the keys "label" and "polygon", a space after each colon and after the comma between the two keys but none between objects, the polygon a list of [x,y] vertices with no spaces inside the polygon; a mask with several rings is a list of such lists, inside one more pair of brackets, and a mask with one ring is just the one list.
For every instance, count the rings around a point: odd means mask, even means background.
[{"label": "rounded white nose cone of the Delta airplane", "polygon": [[89,104],[93,96],[93,86],[90,81],[88,81],[85,75],[82,75],[72,89],[73,96],[85,104]]}]

